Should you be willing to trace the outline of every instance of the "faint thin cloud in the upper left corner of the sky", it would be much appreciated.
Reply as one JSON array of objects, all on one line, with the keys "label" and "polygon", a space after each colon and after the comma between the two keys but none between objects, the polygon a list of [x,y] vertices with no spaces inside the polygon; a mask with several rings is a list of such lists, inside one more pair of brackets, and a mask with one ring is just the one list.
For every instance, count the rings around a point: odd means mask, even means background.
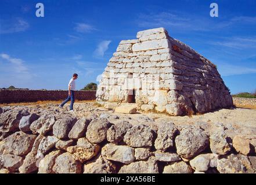
[{"label": "faint thin cloud in the upper left corner of the sky", "polygon": [[15,32],[26,31],[30,25],[23,18],[15,18],[13,20],[0,20],[0,34],[12,34]]}]

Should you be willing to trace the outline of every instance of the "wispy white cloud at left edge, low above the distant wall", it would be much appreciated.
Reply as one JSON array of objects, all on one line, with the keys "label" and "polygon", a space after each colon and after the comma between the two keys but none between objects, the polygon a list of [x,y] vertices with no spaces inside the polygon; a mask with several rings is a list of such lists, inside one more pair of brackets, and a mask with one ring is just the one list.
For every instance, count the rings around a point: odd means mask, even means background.
[{"label": "wispy white cloud at left edge, low above the distant wall", "polygon": [[13,69],[16,73],[27,73],[28,69],[24,65],[24,61],[20,58],[12,58],[8,54],[2,53],[0,57],[9,61],[13,65]]}]

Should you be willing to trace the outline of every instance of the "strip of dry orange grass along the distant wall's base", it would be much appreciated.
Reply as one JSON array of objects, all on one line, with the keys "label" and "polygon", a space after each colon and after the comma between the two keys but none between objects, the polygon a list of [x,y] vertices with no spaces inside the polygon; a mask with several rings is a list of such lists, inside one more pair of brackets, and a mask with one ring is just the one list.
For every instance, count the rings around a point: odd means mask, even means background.
[{"label": "strip of dry orange grass along the distant wall's base", "polygon": [[[83,100],[83,101],[75,101],[75,103],[88,103],[95,102],[95,100]],[[62,101],[38,101],[38,102],[21,102],[21,103],[0,103],[0,106],[33,106],[33,105],[45,105],[48,103],[60,104]]]}]

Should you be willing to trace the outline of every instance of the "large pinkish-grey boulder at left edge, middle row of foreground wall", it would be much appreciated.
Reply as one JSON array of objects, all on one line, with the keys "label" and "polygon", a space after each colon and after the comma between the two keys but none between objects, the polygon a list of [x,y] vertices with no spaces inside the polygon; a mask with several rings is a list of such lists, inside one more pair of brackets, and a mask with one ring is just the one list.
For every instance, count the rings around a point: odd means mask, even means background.
[{"label": "large pinkish-grey boulder at left edge, middle row of foreground wall", "polygon": [[25,156],[32,149],[35,138],[37,138],[36,135],[15,132],[2,141],[3,153]]}]

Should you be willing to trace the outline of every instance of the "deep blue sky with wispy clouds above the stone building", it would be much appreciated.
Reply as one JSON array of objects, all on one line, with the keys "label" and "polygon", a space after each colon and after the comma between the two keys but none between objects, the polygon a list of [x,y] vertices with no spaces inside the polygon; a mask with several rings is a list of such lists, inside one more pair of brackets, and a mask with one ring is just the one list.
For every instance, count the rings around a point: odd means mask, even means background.
[{"label": "deep blue sky with wispy clouds above the stone building", "polygon": [[[36,3],[45,17],[36,17]],[[210,17],[218,3],[219,17]],[[120,40],[164,27],[217,65],[232,93],[256,89],[256,2],[0,1],[0,87],[78,89],[96,82]]]}]

